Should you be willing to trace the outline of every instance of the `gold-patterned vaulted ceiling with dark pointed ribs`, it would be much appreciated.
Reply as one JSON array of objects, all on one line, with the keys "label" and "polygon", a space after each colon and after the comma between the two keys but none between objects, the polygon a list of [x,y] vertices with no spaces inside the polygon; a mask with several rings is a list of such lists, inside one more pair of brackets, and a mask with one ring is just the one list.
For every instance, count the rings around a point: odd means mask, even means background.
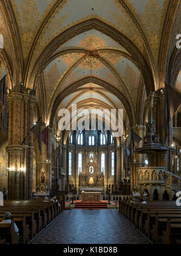
[{"label": "gold-patterned vaulted ceiling with dark pointed ribs", "polygon": [[179,56],[180,13],[180,0],[1,0],[0,76],[36,90],[45,123],[77,103],[122,108],[134,125]]}]

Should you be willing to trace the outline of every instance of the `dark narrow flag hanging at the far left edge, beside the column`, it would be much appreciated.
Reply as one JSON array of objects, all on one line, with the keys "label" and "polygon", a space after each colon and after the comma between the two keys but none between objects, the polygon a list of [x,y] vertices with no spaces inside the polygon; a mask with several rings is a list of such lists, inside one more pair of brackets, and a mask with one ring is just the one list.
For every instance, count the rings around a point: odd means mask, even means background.
[{"label": "dark narrow flag hanging at the far left edge, beside the column", "polygon": [[1,127],[4,133],[7,125],[7,90],[5,87],[5,77],[6,75],[0,81],[0,102],[2,104]]}]

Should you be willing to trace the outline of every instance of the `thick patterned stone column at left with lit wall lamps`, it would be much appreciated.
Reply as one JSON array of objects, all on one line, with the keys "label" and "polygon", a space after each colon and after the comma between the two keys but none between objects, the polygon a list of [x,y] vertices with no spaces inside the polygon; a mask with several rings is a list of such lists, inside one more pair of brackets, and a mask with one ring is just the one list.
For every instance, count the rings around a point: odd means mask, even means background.
[{"label": "thick patterned stone column at left with lit wall lamps", "polygon": [[26,198],[28,94],[11,93],[8,102],[8,199]]}]

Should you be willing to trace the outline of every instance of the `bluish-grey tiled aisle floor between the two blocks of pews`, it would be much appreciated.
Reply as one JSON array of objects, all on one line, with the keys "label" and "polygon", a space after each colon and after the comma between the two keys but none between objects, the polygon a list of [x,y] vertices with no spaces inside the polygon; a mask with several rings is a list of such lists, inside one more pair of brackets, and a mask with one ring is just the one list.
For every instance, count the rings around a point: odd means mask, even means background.
[{"label": "bluish-grey tiled aisle floor between the two blocks of pews", "polygon": [[32,243],[34,244],[144,244],[148,241],[118,209],[64,211]]}]

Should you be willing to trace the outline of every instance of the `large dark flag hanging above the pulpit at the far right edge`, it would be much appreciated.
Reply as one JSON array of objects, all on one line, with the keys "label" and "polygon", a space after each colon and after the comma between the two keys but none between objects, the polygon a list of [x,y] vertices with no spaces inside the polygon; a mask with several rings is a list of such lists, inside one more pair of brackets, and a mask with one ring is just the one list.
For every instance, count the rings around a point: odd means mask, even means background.
[{"label": "large dark flag hanging above the pulpit at the far right edge", "polygon": [[169,122],[174,113],[181,106],[181,94],[165,82],[165,99],[164,99],[164,127],[165,127],[165,144],[168,143]]}]

